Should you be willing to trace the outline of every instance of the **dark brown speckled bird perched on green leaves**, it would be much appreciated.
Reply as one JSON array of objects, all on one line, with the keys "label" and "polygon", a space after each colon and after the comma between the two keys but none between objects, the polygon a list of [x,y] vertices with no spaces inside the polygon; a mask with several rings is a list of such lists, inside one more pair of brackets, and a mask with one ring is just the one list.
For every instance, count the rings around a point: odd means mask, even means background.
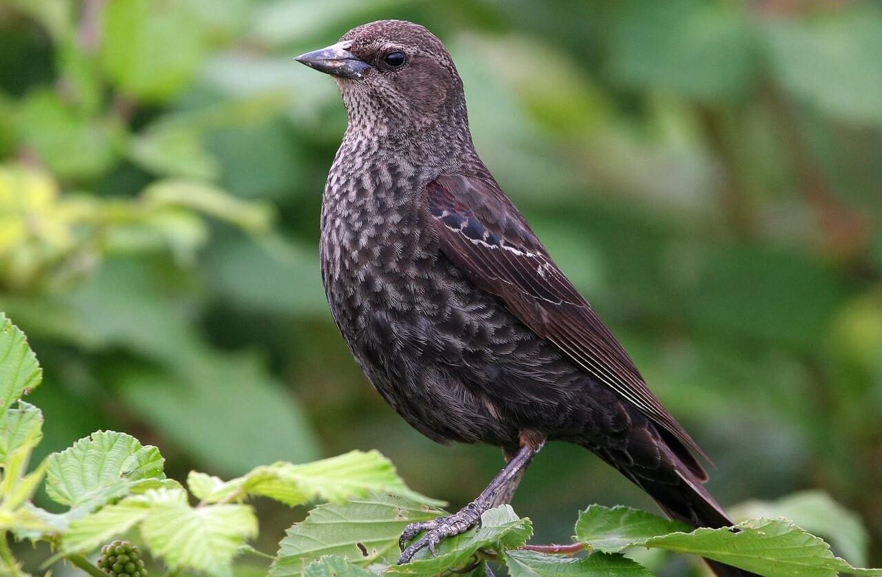
[{"label": "dark brown speckled bird perched on green leaves", "polygon": [[[347,113],[319,255],[349,351],[417,431],[505,456],[459,512],[408,525],[398,563],[511,500],[550,440],[594,452],[672,519],[733,525],[703,486],[704,452],[479,158],[442,41],[379,20],[295,60],[333,78]],[[752,574],[708,563],[721,576]]]}]

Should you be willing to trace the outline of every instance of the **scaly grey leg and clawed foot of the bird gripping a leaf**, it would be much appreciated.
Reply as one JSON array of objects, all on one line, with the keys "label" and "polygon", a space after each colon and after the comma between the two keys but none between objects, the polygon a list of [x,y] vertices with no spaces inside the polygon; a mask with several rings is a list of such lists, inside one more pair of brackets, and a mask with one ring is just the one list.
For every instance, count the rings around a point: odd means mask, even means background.
[{"label": "scaly grey leg and clawed foot of the bird gripping a leaf", "polygon": [[[420,551],[425,547],[429,547],[429,550],[433,555],[437,554],[437,544],[439,544],[442,539],[465,533],[468,529],[471,529],[478,524],[478,522],[481,522],[481,514],[484,511],[496,507],[498,503],[505,502],[499,499],[502,493],[506,493],[510,498],[511,493],[514,492],[514,487],[517,487],[520,477],[523,475],[524,470],[527,469],[527,465],[530,464],[533,456],[542,449],[544,444],[545,440],[539,440],[538,442],[524,442],[518,453],[515,454],[505,465],[503,470],[499,471],[499,474],[490,481],[490,485],[487,485],[487,488],[478,495],[478,498],[469,503],[466,507],[462,507],[459,512],[452,515],[437,517],[431,521],[407,525],[399,539],[401,557],[398,559],[398,564],[401,565],[402,563],[407,563],[407,561],[413,559],[416,551]],[[407,542],[417,536],[421,531],[425,531],[425,535],[423,535],[415,544],[412,544],[405,549]]]}]

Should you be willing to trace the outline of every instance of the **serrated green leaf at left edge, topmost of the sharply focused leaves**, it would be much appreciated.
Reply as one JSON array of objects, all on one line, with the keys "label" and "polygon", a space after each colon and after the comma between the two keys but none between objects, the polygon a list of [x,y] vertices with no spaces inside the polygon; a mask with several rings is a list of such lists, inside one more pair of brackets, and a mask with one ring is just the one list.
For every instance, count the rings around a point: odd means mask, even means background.
[{"label": "serrated green leaf at left edge, topmost of the sharply focused leaves", "polygon": [[0,411],[5,412],[22,395],[37,388],[42,376],[25,333],[0,313]]}]

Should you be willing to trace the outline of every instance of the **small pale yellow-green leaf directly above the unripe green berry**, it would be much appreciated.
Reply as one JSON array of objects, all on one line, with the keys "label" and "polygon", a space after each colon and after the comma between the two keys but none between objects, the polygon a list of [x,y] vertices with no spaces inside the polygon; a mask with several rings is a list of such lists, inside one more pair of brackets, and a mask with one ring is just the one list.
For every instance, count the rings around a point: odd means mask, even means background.
[{"label": "small pale yellow-green leaf directly above the unripe green berry", "polygon": [[92,551],[143,521],[150,507],[151,504],[144,499],[131,498],[101,507],[97,512],[71,522],[61,550],[65,553]]}]

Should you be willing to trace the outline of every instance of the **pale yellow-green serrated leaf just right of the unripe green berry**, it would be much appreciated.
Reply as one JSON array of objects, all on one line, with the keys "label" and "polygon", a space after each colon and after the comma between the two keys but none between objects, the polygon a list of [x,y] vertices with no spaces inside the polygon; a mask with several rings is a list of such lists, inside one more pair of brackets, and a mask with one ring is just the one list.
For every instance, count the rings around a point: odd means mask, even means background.
[{"label": "pale yellow-green serrated leaf just right of the unripe green berry", "polygon": [[141,524],[154,555],[173,570],[188,567],[226,574],[239,545],[258,534],[258,519],[246,505],[190,507],[173,499],[156,503]]}]

